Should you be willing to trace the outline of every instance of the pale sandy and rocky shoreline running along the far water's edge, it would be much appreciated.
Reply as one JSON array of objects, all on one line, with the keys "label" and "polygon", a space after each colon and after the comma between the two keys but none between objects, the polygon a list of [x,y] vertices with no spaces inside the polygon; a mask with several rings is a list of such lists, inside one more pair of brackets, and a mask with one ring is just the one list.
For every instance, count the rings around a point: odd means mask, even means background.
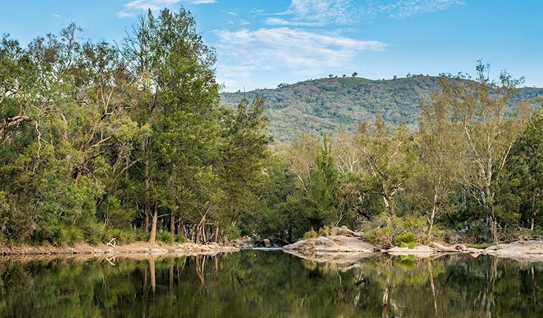
[{"label": "pale sandy and rocky shoreline running along the far water's edge", "polygon": [[[132,259],[144,259],[150,256],[197,256],[215,255],[219,253],[239,252],[241,249],[251,249],[248,245],[219,245],[215,242],[208,244],[196,244],[193,242],[164,243],[157,242],[132,242],[125,245],[108,246],[106,244],[88,245],[76,244],[72,246],[55,247],[52,245],[40,246],[0,246],[0,254],[4,258],[11,257],[70,257],[84,256],[88,259],[102,257],[127,257]],[[254,247],[259,249],[258,247]],[[361,261],[372,255],[406,256],[413,255],[419,259],[435,258],[450,254],[469,254],[472,257],[479,255],[493,255],[501,258],[515,259],[518,261],[543,261],[543,241],[518,241],[508,244],[498,244],[477,249],[467,247],[464,244],[443,245],[432,242],[430,245],[417,245],[413,249],[408,247],[392,247],[391,249],[379,249],[358,237],[343,235],[316,237],[309,240],[300,240],[292,245],[277,248],[287,254],[292,254],[302,259],[311,261],[337,263]]]}]

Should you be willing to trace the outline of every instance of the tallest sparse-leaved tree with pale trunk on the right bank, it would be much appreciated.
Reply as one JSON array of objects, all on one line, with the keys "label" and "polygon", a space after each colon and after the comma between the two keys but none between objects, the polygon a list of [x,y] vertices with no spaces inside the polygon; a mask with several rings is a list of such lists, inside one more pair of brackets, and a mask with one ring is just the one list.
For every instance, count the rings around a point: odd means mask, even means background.
[{"label": "tallest sparse-leaved tree with pale trunk on the right bank", "polygon": [[527,105],[512,102],[521,83],[503,71],[500,81],[488,78],[488,64],[479,61],[477,81],[441,81],[450,102],[452,120],[462,131],[471,173],[466,178],[470,194],[482,209],[491,240],[498,242],[496,182],[513,143],[527,118]]}]

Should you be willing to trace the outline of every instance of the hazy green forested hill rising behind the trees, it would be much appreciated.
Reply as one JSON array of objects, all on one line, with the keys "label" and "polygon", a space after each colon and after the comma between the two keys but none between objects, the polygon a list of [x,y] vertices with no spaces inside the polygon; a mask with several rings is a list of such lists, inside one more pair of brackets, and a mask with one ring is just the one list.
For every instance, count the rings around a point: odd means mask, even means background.
[{"label": "hazy green forested hill rising behind the trees", "polygon": [[[246,96],[264,99],[275,142],[288,142],[300,132],[354,131],[358,122],[372,122],[377,112],[388,124],[404,122],[414,128],[420,114],[418,102],[438,88],[436,76],[379,81],[334,77],[251,90]],[[243,95],[222,93],[221,98],[226,105],[236,105]],[[543,95],[543,88],[522,88],[518,98],[527,100],[537,95]]]}]

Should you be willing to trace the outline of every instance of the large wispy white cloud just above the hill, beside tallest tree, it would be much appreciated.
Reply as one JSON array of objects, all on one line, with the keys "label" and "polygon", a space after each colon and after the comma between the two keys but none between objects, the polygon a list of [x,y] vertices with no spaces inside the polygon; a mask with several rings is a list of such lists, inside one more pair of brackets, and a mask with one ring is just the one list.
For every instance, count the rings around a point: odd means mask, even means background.
[{"label": "large wispy white cloud just above the hill, beside tallest tree", "polygon": [[220,40],[219,56],[260,70],[277,66],[293,70],[326,69],[345,64],[358,52],[382,51],[387,47],[379,41],[353,40],[291,28],[218,30],[215,33]]}]

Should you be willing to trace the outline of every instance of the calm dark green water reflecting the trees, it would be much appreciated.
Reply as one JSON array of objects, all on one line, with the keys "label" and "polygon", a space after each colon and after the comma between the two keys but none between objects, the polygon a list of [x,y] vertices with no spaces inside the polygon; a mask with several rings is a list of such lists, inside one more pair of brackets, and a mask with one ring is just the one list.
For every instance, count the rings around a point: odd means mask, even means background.
[{"label": "calm dark green water reflecting the trees", "polygon": [[[114,264],[114,265],[113,265]],[[541,317],[543,264],[281,251],[158,259],[0,259],[0,317]]]}]

